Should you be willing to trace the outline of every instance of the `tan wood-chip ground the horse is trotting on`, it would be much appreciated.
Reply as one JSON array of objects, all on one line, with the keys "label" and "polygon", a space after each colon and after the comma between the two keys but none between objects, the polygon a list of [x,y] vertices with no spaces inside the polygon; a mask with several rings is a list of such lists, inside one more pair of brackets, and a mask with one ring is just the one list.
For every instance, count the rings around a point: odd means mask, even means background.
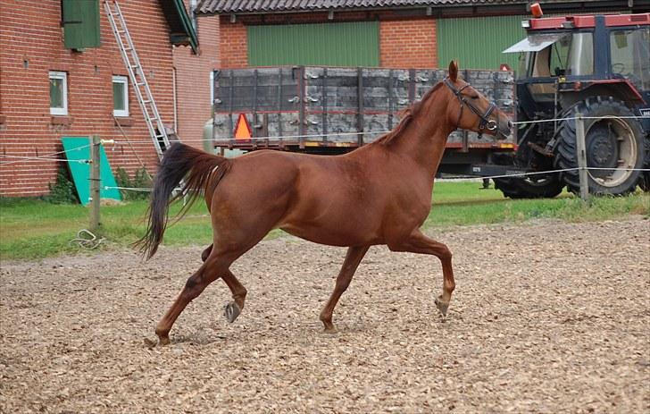
[{"label": "tan wood-chip ground the horse is trotting on", "polygon": [[345,249],[263,241],[233,272],[229,325],[213,283],[149,349],[201,247],[3,263],[0,411],[648,412],[650,221],[441,232],[437,258],[375,247],[334,313],[318,315]]}]

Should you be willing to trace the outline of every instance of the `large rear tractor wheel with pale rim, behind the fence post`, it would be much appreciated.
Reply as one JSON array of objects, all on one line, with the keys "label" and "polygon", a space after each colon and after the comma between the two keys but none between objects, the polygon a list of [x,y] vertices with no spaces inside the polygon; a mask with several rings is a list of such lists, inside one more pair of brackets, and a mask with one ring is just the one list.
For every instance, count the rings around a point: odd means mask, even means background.
[{"label": "large rear tractor wheel with pale rim, behind the fence post", "polygon": [[[612,97],[589,97],[564,112],[570,118],[575,114],[585,117],[587,167],[595,168],[587,172],[589,193],[618,196],[634,191],[641,172],[632,169],[640,169],[646,156],[643,130],[634,113]],[[555,137],[555,165],[572,169],[562,177],[569,190],[579,193],[575,120],[562,121]]]}]

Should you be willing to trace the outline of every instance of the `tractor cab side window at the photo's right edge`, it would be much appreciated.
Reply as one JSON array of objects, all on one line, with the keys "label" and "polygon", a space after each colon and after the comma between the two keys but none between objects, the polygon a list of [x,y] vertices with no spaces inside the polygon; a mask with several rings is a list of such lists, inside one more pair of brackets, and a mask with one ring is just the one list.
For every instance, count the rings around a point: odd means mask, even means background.
[{"label": "tractor cab side window at the photo's right edge", "polygon": [[612,30],[612,74],[629,79],[637,89],[650,89],[650,28]]}]

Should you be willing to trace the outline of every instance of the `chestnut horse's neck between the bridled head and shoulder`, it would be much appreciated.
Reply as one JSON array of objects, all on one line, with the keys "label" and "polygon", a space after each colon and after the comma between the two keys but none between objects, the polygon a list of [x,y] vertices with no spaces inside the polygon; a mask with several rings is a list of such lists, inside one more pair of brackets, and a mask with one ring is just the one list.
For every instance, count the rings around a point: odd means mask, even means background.
[{"label": "chestnut horse's neck between the bridled head and shoulder", "polygon": [[393,145],[396,153],[411,158],[431,176],[436,173],[445,152],[447,137],[455,129],[447,120],[447,100],[437,102],[435,99],[435,96],[429,97],[429,105],[421,108]]}]

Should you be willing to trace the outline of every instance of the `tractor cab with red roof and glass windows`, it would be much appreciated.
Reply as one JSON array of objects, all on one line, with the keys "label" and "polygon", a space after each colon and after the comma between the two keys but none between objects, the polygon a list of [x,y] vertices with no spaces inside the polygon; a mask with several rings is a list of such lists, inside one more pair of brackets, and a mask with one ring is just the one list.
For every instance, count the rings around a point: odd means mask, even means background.
[{"label": "tractor cab with red roof and glass windows", "polygon": [[649,24],[648,13],[522,21],[528,36],[504,53],[521,54],[523,115],[555,114],[586,94],[607,93],[630,106],[650,103]]}]

